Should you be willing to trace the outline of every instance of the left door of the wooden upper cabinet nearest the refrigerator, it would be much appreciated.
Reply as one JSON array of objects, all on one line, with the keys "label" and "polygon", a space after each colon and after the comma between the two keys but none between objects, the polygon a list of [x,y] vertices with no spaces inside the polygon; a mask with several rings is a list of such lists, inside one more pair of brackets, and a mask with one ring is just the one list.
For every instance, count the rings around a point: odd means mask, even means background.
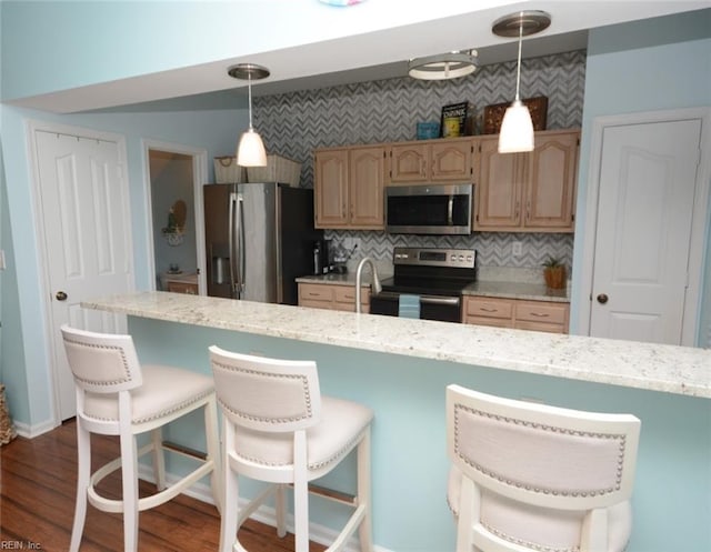
[{"label": "left door of the wooden upper cabinet nearest the refrigerator", "polygon": [[348,150],[316,152],[316,228],[348,227]]}]

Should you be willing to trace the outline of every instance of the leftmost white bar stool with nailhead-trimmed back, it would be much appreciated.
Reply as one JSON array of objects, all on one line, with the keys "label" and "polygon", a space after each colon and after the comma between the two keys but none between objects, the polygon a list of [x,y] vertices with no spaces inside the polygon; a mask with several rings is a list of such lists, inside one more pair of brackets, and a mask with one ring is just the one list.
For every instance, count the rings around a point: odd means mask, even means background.
[{"label": "leftmost white bar stool with nailhead-trimmed back", "polygon": [[[138,548],[140,511],[173,499],[206,475],[210,475],[212,494],[220,509],[220,448],[212,378],[172,367],[141,367],[130,335],[88,332],[68,325],[62,325],[61,331],[77,388],[79,474],[69,550],[79,550],[87,500],[98,510],[123,513],[126,552]],[[163,446],[161,428],[198,409],[204,409],[207,456],[196,470],[167,486],[164,451],[172,449]],[[150,443],[138,449],[136,436],[149,431]],[[94,473],[91,473],[91,433],[119,435],[121,443],[121,456]],[[139,499],[138,459],[148,452],[153,455],[158,492]],[[119,468],[122,500],[101,496],[94,485]]]}]

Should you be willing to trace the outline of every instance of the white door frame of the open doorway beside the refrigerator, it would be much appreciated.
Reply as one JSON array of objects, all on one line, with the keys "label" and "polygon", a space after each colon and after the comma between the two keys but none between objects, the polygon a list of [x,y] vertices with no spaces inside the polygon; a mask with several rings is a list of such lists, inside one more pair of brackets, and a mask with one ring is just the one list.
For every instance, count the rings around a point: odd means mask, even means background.
[{"label": "white door frame of the open doorway beside the refrigerator", "polygon": [[148,217],[148,228],[146,238],[148,240],[146,251],[148,252],[148,275],[151,289],[156,290],[156,250],[153,248],[153,205],[151,198],[151,167],[149,159],[149,150],[160,150],[169,153],[180,153],[192,158],[192,194],[194,200],[196,215],[196,252],[198,258],[198,292],[201,295],[208,293],[208,282],[206,280],[206,251],[204,251],[204,210],[202,208],[202,184],[208,181],[208,151],[204,148],[191,148],[181,143],[163,142],[159,140],[141,140],[141,149],[143,150],[143,191],[146,195],[146,209]]}]

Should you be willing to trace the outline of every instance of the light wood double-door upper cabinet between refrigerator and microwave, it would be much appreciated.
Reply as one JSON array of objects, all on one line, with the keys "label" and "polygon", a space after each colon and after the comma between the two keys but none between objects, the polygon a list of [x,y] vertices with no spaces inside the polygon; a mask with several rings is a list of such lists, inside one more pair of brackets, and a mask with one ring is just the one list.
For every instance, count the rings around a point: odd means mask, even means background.
[{"label": "light wood double-door upper cabinet between refrigerator and microwave", "polygon": [[316,228],[384,229],[385,147],[323,149],[314,157]]}]

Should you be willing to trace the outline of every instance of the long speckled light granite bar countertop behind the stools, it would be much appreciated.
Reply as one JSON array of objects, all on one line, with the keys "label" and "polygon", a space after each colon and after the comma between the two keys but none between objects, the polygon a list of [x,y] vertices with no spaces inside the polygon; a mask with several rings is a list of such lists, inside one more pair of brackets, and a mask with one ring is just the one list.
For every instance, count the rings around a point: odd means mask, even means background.
[{"label": "long speckled light granite bar countertop behind the stools", "polygon": [[711,399],[711,350],[147,291],[82,302],[154,320]]}]

